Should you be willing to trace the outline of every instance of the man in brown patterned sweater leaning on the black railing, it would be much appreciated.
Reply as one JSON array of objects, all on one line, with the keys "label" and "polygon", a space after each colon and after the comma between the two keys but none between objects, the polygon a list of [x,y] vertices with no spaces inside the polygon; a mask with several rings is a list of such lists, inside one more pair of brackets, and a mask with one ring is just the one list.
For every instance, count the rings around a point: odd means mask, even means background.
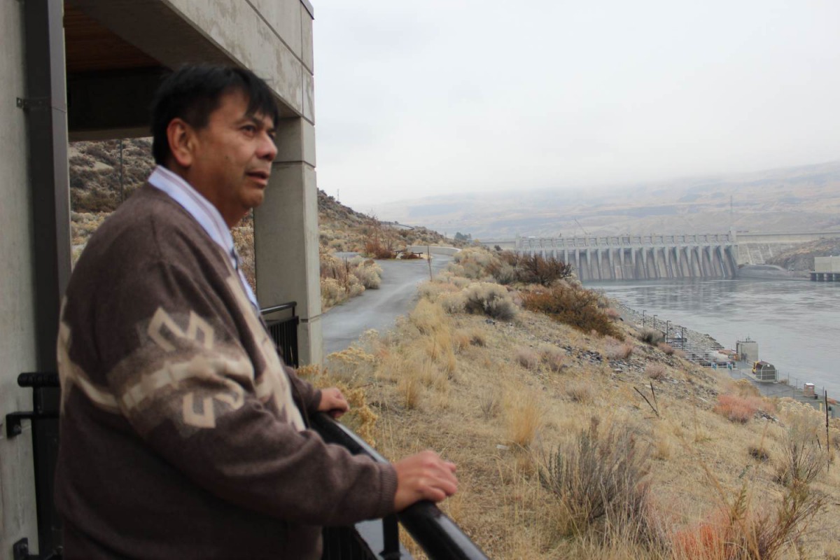
[{"label": "man in brown patterned sweater leaning on the black railing", "polygon": [[67,558],[314,558],[319,526],[455,492],[433,452],[380,465],[306,429],[347,402],[283,366],[228,230],[263,200],[277,118],[249,71],[160,86],[158,166],[88,243],[61,313]]}]

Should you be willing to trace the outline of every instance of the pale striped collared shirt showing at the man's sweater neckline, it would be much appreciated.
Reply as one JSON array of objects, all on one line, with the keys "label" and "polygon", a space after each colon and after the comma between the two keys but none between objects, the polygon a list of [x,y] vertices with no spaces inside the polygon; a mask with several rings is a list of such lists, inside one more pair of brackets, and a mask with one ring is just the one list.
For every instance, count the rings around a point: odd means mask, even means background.
[{"label": "pale striped collared shirt showing at the man's sweater neckline", "polygon": [[230,234],[228,224],[224,222],[218,208],[214,207],[201,193],[184,181],[181,175],[173,173],[162,165],[157,165],[152,174],[149,175],[149,184],[160,191],[164,191],[180,204],[186,212],[189,212],[190,216],[198,222],[198,225],[207,232],[207,235],[228,255],[230,265],[239,273],[242,287],[255,311],[257,311],[257,316],[259,316],[260,305],[257,303],[257,296],[254,290],[251,290],[248,280],[245,280],[245,275],[239,268],[239,254],[236,253],[234,248],[234,236]]}]

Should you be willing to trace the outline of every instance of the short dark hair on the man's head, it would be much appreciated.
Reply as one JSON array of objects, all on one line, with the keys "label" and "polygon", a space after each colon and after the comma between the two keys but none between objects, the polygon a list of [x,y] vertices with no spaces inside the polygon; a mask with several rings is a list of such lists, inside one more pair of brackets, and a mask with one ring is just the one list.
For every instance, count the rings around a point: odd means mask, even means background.
[{"label": "short dark hair on the man's head", "polygon": [[152,155],[164,165],[170,154],[166,128],[173,118],[182,118],[193,128],[207,126],[210,113],[222,96],[242,92],[248,97],[248,113],[270,117],[275,125],[280,113],[265,81],[254,72],[236,66],[184,65],[161,82],[152,102]]}]

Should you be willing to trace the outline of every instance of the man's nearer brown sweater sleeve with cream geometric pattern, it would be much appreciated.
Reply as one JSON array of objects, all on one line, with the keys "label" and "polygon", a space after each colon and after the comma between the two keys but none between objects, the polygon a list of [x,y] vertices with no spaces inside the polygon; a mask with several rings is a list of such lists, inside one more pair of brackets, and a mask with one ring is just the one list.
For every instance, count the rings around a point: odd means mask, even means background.
[{"label": "man's nearer brown sweater sleeve with cream geometric pattern", "polygon": [[[98,348],[113,364],[106,379],[119,413],[153,453],[223,500],[284,521],[344,525],[391,513],[395,469],[268,406],[278,388],[255,381],[265,364],[201,275],[155,263],[119,292],[100,307]],[[294,384],[317,408],[320,392],[283,373],[271,384]]]}]

